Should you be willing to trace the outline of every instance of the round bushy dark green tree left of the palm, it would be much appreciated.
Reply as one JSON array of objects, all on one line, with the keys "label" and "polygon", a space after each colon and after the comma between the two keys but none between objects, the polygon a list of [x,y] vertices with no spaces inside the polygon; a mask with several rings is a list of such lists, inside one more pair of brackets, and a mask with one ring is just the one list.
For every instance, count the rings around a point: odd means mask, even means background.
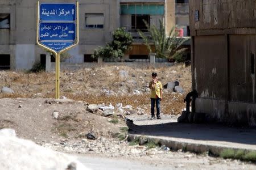
[{"label": "round bushy dark green tree left of the palm", "polygon": [[125,28],[118,28],[113,32],[113,41],[106,44],[106,46],[101,46],[94,50],[94,58],[121,58],[123,54],[129,49],[129,46],[133,42],[133,37],[131,33],[126,32]]}]

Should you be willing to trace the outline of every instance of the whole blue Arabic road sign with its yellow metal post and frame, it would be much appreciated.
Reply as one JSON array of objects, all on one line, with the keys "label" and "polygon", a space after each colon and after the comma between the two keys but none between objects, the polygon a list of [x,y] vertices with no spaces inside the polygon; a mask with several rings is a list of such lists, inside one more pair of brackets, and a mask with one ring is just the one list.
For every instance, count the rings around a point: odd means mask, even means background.
[{"label": "whole blue Arabic road sign with its yellow metal post and frame", "polygon": [[79,2],[38,1],[36,42],[55,55],[55,98],[60,99],[60,54],[79,42]]}]

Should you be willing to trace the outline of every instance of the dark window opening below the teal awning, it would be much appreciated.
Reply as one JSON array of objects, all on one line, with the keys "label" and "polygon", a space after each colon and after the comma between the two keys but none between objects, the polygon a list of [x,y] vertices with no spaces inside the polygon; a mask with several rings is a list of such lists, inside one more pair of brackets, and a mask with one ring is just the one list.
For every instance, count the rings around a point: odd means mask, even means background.
[{"label": "dark window opening below the teal awning", "polygon": [[131,15],[131,29],[141,29],[141,31],[147,31],[145,20],[150,25],[150,15]]}]

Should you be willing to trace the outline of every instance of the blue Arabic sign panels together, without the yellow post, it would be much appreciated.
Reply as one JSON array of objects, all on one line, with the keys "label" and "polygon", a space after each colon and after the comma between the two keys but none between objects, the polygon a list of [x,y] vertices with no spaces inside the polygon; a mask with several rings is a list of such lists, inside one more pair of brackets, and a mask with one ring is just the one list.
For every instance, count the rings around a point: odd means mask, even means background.
[{"label": "blue Arabic sign panels together, without the yellow post", "polygon": [[39,10],[40,44],[60,52],[75,44],[76,5],[72,3],[42,3]]}]

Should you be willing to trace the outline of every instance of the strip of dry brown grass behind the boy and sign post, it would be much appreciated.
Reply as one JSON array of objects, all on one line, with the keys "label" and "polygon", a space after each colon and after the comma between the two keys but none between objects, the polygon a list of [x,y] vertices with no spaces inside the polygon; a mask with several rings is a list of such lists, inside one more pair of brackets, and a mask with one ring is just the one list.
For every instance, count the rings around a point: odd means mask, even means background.
[{"label": "strip of dry brown grass behind the boy and sign post", "polygon": [[[60,95],[73,100],[86,101],[90,104],[112,103],[115,105],[122,103],[123,105],[132,105],[134,108],[140,107],[145,109],[149,113],[149,94],[133,95],[133,90],[143,90],[146,88],[151,79],[151,73],[155,71],[158,73],[162,84],[177,80],[180,82],[181,87],[184,88],[185,93],[183,95],[164,91],[164,99],[161,103],[163,113],[181,113],[181,109],[185,107],[183,98],[185,94],[191,91],[191,68],[184,67],[183,64],[160,68],[150,65],[137,66],[98,65],[91,69],[84,68],[76,71],[61,71]],[[120,79],[120,70],[127,71],[129,74],[127,79]],[[0,88],[2,86],[12,88],[15,94],[0,93],[0,98],[53,98],[55,97],[55,73],[15,73],[13,71],[0,71]],[[105,95],[103,89],[111,90],[117,95]],[[122,92],[122,90],[125,92]]]}]

